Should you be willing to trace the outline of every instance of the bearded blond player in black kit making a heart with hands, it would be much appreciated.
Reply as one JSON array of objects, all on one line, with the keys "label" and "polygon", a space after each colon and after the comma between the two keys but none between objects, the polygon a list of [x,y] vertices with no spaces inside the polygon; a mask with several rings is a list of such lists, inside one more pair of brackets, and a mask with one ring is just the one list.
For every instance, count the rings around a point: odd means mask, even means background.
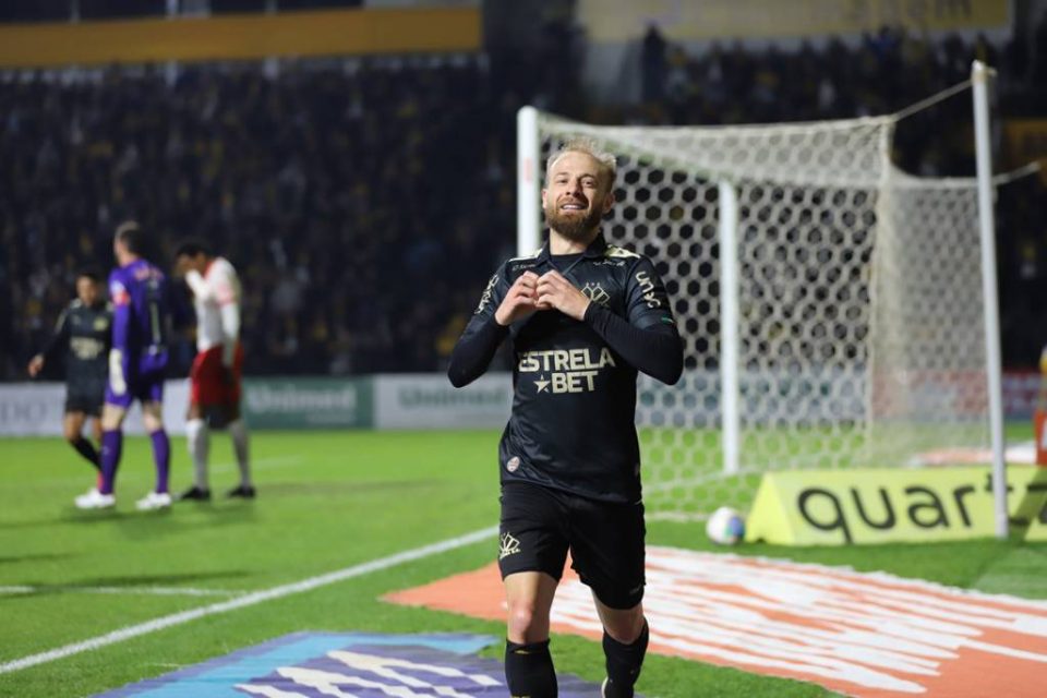
[{"label": "bearded blond player in black kit making a heart with hands", "polygon": [[448,376],[469,384],[512,342],[513,413],[498,447],[510,695],[556,696],[550,609],[569,550],[603,623],[603,696],[628,698],[648,642],[636,377],[676,383],[683,344],[653,264],[600,232],[614,156],[571,141],[545,177],[549,240],[491,278]]}]

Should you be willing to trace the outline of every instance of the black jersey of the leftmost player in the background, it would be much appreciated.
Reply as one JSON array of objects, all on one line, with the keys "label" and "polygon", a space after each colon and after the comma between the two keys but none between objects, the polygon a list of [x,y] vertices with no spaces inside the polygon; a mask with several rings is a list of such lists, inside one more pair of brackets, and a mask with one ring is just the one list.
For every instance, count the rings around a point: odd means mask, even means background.
[{"label": "black jersey of the leftmost player in the background", "polygon": [[106,302],[85,305],[74,299],[62,311],[40,353],[51,362],[64,352],[70,395],[101,395],[109,371],[111,336],[112,306]]}]

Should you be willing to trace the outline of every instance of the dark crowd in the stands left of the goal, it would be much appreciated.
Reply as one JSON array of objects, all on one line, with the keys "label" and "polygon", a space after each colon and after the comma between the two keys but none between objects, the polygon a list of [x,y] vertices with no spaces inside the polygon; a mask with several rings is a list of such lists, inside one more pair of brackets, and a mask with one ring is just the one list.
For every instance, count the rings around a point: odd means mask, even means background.
[{"label": "dark crowd in the stands left of the goal", "polygon": [[156,232],[161,265],[185,236],[238,265],[249,373],[435,369],[456,293],[512,241],[491,230],[510,215],[493,136],[513,113],[486,85],[474,58],[3,83],[4,377],[77,267],[111,266],[124,218]]}]

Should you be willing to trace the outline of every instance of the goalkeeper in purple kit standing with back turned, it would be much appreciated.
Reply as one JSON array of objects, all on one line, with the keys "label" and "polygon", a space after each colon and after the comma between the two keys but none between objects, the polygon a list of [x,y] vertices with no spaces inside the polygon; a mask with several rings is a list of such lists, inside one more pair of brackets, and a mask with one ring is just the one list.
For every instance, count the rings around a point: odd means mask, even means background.
[{"label": "goalkeeper in purple kit standing with back turned", "polygon": [[109,275],[113,305],[109,382],[101,412],[101,482],[76,497],[82,509],[116,505],[113,483],[123,446],[123,420],[134,400],[142,404],[142,421],[153,442],[156,490],[136,503],[139,509],[171,505],[168,471],[171,445],[164,431],[164,377],[167,370],[166,334],[170,315],[168,280],[142,257],[145,236],[136,222],[117,228],[112,249],[120,265]]}]

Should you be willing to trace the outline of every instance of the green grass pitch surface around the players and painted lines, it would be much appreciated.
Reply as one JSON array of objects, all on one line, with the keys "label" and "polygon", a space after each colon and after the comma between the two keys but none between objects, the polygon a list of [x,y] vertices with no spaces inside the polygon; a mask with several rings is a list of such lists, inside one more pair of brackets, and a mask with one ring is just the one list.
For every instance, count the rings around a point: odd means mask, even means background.
[{"label": "green grass pitch surface around the players and painted lines", "polygon": [[[1030,438],[1030,429],[1009,438]],[[497,522],[495,432],[260,432],[255,502],[220,492],[236,482],[228,438],[213,435],[210,504],[142,514],[152,486],[148,444],[130,437],[116,512],[81,513],[73,496],[92,471],[58,438],[0,441],[0,664],[208,605],[222,595],[146,595],[147,587],[239,593],[269,589],[386,557]],[[173,440],[172,491],[189,484],[184,442]],[[711,547],[698,524],[654,521],[649,542]],[[210,615],[65,659],[0,674],[0,696],[85,696],[229,653],[296,630],[472,631],[500,623],[377,600],[481,567],[497,542],[459,547],[313,591]],[[884,570],[983,591],[1047,598],[1047,545],[983,540],[861,549],[736,549],[742,554]],[[13,589],[13,588],[28,589]],[[107,588],[111,593],[87,593]],[[554,640],[557,669],[602,678],[598,643]],[[489,650],[500,655],[501,650]],[[706,664],[648,658],[649,697],[825,696],[809,684]]]}]

